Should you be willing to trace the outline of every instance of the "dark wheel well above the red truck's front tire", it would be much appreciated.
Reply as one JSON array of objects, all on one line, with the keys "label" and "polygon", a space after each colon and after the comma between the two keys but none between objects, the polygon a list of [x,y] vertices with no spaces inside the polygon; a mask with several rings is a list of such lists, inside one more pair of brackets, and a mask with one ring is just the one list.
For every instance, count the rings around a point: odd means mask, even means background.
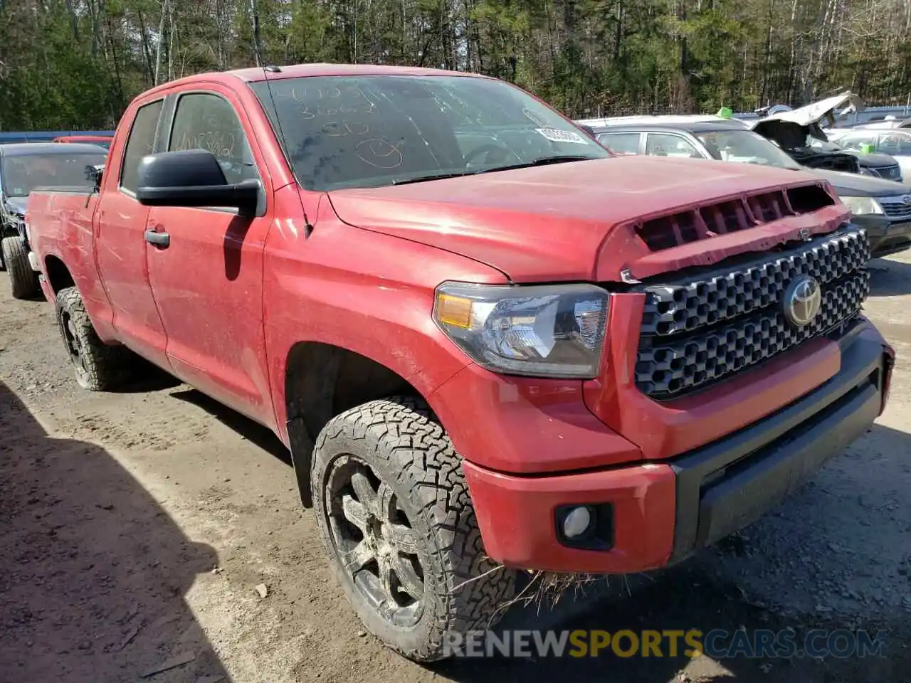
[{"label": "dark wheel well above the red truck's front tire", "polygon": [[285,368],[289,445],[301,499],[309,507],[313,445],[326,423],[362,403],[421,394],[383,364],[333,344],[298,342]]}]

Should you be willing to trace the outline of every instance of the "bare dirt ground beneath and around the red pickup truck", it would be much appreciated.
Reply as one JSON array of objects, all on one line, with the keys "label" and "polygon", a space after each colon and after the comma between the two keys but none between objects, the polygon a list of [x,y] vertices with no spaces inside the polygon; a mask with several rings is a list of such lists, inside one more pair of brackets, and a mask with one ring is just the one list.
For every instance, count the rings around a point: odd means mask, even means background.
[{"label": "bare dirt ground beneath and around the red pickup truck", "polygon": [[167,379],[81,391],[52,307],[12,300],[0,274],[0,680],[906,680],[911,255],[871,265],[867,311],[898,362],[891,404],[870,433],[719,547],[553,610],[516,608],[504,627],[885,628],[885,657],[495,658],[432,668],[363,633],[271,433]]}]

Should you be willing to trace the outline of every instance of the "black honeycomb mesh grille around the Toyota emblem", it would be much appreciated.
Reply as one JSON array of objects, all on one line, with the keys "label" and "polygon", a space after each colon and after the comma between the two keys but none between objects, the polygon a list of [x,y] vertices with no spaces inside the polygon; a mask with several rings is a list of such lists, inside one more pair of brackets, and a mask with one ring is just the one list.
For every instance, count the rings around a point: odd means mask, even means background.
[{"label": "black honeycomb mesh grille around the Toyota emblem", "polygon": [[[845,229],[690,280],[647,285],[637,386],[655,399],[681,396],[851,319],[869,292],[869,258],[865,232]],[[801,274],[822,288],[820,311],[803,328],[783,311],[784,291]]]}]

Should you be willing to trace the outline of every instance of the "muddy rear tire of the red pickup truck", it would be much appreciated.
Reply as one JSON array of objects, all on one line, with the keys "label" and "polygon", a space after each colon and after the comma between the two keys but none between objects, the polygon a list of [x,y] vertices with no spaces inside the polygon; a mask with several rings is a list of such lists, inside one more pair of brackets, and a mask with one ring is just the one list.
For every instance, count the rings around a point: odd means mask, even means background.
[{"label": "muddy rear tire of the red pickup truck", "polygon": [[[136,356],[125,346],[111,346],[98,339],[82,297],[75,287],[57,292],[56,319],[79,386],[90,392],[104,392],[131,379],[131,366],[137,360]],[[74,359],[69,337],[79,346],[81,364]]]}]

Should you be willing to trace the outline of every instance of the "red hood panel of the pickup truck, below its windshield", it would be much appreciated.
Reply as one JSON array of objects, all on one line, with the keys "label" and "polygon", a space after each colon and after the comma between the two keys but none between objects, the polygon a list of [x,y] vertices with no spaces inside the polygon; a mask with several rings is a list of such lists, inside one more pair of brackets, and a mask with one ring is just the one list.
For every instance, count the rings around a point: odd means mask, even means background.
[{"label": "red hood panel of the pickup truck, below its windshield", "polygon": [[[814,179],[782,168],[630,156],[339,189],[329,199],[345,223],[460,254],[516,282],[616,281],[627,260],[650,255],[633,223]],[[711,247],[726,256],[747,250],[744,241],[701,242],[660,268],[711,262]]]}]

